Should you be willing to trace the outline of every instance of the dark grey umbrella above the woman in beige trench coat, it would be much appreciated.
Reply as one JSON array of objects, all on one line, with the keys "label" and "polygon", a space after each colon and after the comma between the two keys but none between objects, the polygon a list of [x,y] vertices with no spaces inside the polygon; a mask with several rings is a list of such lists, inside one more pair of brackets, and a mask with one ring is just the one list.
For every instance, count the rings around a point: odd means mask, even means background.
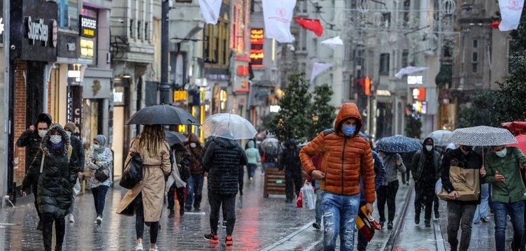
[{"label": "dark grey umbrella above the woman in beige trench coat", "polygon": [[148,106],[131,115],[126,124],[195,124],[197,118],[183,108],[169,105]]}]

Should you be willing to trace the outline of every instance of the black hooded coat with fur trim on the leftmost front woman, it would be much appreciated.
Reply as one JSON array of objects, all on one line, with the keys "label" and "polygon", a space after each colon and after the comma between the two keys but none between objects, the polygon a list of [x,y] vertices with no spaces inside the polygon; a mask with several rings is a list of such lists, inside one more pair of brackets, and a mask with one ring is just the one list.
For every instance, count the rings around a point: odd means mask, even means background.
[{"label": "black hooded coat with fur trim on the leftmost front woman", "polygon": [[[50,150],[50,136],[59,131],[62,136],[63,147]],[[78,164],[75,155],[68,157],[70,146],[69,136],[59,124],[53,124],[45,134],[41,150],[29,166],[29,171],[22,181],[22,189],[27,189],[34,180],[38,180],[36,202],[41,213],[51,213],[55,218],[62,218],[68,214],[75,185]],[[42,157],[44,155],[44,158]],[[40,173],[43,161],[43,171]]]}]

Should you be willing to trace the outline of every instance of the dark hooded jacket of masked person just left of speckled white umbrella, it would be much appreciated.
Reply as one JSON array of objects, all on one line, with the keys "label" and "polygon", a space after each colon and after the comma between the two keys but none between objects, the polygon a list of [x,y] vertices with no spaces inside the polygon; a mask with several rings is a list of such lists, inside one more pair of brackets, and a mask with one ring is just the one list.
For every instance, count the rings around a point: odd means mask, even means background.
[{"label": "dark hooded jacket of masked person just left of speckled white umbrella", "polygon": [[[422,150],[418,150],[413,156],[413,161],[411,162],[411,173],[413,173],[413,179],[418,182],[424,176],[429,178],[428,180],[439,180],[440,178],[440,153],[432,149],[431,152],[427,152],[425,149],[425,142],[430,139],[433,141],[433,138],[425,138],[424,143],[422,143]],[[433,166],[426,166],[426,159],[432,158],[431,161]],[[427,179],[426,179],[427,180]],[[434,184],[429,184],[434,186]]]}]

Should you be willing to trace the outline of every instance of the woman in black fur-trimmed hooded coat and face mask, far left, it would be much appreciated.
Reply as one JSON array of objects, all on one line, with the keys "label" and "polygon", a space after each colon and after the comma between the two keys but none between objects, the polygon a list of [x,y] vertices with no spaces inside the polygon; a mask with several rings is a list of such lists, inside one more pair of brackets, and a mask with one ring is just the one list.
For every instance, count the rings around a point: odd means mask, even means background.
[{"label": "woman in black fur-trimmed hooded coat and face mask, far left", "polygon": [[[36,201],[42,215],[44,249],[51,250],[52,229],[55,222],[55,250],[62,250],[73,186],[78,173],[75,155],[71,155],[71,143],[60,124],[53,124],[42,139],[41,151],[29,166],[22,181],[22,194],[37,180]],[[71,159],[70,159],[71,158]]]}]

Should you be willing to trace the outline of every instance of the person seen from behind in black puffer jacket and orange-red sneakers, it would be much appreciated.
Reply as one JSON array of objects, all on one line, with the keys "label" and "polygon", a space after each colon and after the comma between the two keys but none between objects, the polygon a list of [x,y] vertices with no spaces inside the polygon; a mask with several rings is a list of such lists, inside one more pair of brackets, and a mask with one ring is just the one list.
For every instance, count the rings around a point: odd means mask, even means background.
[{"label": "person seen from behind in black puffer jacket and orange-red sneakers", "polygon": [[[218,130],[220,131],[220,129]],[[236,223],[236,194],[239,189],[238,172],[239,166],[247,164],[246,153],[236,141],[220,137],[213,138],[210,143],[207,143],[205,149],[206,152],[202,161],[205,176],[208,177],[211,233],[204,237],[212,243],[219,243],[219,208],[222,205],[227,215],[225,244],[233,245],[232,232]]]}]

